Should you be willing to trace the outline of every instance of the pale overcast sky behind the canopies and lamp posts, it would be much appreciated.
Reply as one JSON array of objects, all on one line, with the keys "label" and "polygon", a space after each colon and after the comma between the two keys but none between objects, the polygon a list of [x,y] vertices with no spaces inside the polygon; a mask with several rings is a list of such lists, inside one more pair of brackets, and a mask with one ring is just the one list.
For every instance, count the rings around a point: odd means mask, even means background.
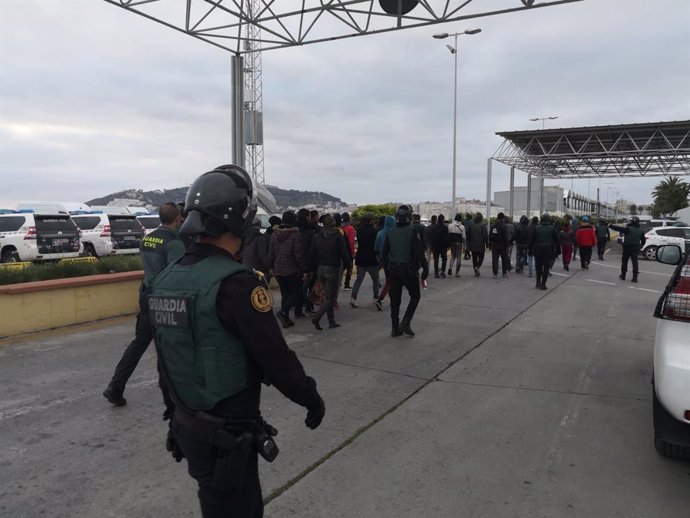
[{"label": "pale overcast sky behind the canopies and lamp posts", "polygon": [[[495,132],[541,128],[532,117],[690,119],[690,1],[585,0],[265,52],[266,183],[360,204],[450,200],[452,41],[431,35],[472,27],[458,196],[485,198]],[[0,2],[0,204],[180,187],[230,160],[230,54],[106,2]],[[494,190],[508,171],[494,165]],[[573,186],[649,203],[658,181]]]}]

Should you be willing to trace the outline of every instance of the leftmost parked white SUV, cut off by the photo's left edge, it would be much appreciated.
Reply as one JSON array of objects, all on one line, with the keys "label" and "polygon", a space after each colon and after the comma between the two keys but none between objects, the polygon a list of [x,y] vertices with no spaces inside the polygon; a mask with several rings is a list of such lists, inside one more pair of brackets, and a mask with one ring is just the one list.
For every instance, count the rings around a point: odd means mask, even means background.
[{"label": "leftmost parked white SUV, cut off by the photo's left edge", "polygon": [[32,210],[0,214],[0,262],[48,261],[79,257],[79,229],[69,214],[35,214]]}]

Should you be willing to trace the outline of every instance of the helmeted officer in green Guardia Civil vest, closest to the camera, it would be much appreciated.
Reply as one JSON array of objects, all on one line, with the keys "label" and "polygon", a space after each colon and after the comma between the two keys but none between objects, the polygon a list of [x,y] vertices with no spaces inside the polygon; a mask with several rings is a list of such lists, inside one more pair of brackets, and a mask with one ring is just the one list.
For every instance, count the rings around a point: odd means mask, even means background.
[{"label": "helmeted officer in green Guardia Civil vest, closest to the camera", "polygon": [[166,446],[187,458],[204,518],[263,516],[257,455],[275,457],[277,431],[261,417],[261,382],[305,407],[307,427],[325,414],[316,382],[283,339],[263,275],[235,259],[255,214],[255,186],[240,167],[197,178],[181,229],[196,241],[149,297],[174,404]]}]

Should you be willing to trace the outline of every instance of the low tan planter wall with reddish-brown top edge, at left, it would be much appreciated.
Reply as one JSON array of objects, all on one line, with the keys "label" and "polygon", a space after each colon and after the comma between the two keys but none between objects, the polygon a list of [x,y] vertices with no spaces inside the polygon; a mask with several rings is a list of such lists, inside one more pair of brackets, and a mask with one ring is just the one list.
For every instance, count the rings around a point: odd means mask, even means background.
[{"label": "low tan planter wall with reddish-brown top edge, at left", "polygon": [[139,310],[143,271],[0,286],[0,338]]}]

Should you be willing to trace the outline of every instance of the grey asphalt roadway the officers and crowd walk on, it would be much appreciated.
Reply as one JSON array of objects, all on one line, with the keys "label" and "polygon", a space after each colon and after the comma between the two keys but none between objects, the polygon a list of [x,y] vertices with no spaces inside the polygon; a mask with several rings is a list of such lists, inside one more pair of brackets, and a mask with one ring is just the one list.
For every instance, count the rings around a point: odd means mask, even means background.
[{"label": "grey asphalt roadway the officers and crowd walk on", "polygon": [[[308,321],[288,343],[319,384],[322,426],[274,389],[263,412],[281,453],[262,464],[266,516],[664,517],[690,514],[690,463],[652,444],[652,312],[671,267],[618,279],[430,279],[415,338],[391,338],[371,286],[341,292],[342,327]],[[101,396],[132,318],[0,341],[0,516],[199,516],[166,425],[150,350],[123,408]]]}]

